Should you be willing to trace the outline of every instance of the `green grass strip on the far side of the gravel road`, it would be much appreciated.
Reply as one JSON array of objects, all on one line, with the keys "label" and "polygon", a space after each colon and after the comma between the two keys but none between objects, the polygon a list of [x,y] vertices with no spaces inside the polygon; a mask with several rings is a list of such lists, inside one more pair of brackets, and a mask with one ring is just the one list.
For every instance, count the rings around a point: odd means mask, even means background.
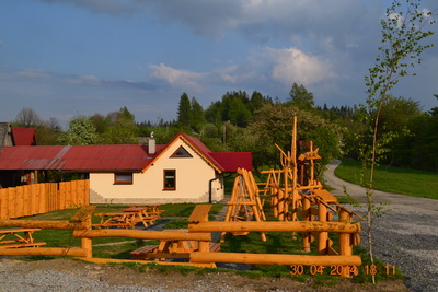
[{"label": "green grass strip on the far side of the gravel road", "polygon": [[[343,160],[335,170],[336,176],[356,185],[364,185],[361,182],[369,180],[369,170],[362,176],[365,179],[361,179],[361,172],[360,162],[353,160]],[[438,199],[438,173],[377,166],[373,180],[373,188],[378,190]]]}]

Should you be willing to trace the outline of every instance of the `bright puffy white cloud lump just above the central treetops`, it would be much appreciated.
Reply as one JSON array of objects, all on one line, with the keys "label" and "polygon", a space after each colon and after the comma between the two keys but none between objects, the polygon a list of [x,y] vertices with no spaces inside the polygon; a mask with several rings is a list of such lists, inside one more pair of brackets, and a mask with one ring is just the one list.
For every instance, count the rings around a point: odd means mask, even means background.
[{"label": "bright puffy white cloud lump just above the central treetops", "polygon": [[267,48],[265,56],[273,63],[272,78],[287,85],[297,82],[307,86],[336,77],[328,61],[306,55],[297,48]]}]

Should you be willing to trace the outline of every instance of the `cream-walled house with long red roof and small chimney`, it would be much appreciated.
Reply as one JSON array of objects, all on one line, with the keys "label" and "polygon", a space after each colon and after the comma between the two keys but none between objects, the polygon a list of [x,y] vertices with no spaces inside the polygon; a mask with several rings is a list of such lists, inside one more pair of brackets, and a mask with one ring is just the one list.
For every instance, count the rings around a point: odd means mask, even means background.
[{"label": "cream-walled house with long red roof and small chimney", "polygon": [[[148,145],[28,145],[30,141],[23,138],[20,142],[27,145],[1,149],[0,184],[3,187],[11,186],[8,179],[12,179],[12,172],[60,171],[89,176],[95,202],[108,199],[120,203],[139,202],[146,198],[148,202],[196,202],[223,197],[223,173],[237,172],[238,167],[252,171],[251,152],[211,152],[197,138],[184,132],[177,133],[168,144],[158,145],[154,139],[150,139]],[[14,179],[16,182],[16,177]],[[145,196],[148,190],[152,194]]]}]

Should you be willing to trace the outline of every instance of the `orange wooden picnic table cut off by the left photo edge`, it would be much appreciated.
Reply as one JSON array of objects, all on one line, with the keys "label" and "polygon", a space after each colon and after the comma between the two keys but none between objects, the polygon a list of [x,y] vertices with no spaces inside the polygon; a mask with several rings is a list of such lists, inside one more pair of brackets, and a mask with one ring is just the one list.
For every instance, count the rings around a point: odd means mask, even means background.
[{"label": "orange wooden picnic table cut off by the left photo edge", "polygon": [[35,243],[33,233],[41,229],[3,229],[0,230],[0,248],[37,247],[46,243]]}]

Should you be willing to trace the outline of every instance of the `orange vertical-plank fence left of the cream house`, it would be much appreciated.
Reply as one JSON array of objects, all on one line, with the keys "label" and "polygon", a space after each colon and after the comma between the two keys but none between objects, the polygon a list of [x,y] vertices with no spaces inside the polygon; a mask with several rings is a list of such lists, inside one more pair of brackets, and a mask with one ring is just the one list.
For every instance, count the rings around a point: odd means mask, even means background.
[{"label": "orange vertical-plank fence left of the cream house", "polygon": [[0,189],[0,219],[35,215],[89,203],[89,179],[3,188]]}]

